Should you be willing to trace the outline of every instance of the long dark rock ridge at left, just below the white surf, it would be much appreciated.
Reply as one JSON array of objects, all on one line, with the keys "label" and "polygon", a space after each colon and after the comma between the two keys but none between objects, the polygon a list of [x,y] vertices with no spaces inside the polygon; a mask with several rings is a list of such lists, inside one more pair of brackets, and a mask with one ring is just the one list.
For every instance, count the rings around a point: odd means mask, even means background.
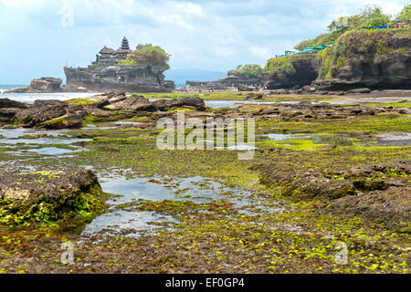
[{"label": "long dark rock ridge at left, just below the white surf", "polygon": [[159,99],[150,101],[133,95],[111,92],[67,102],[53,99],[36,100],[28,105],[10,99],[0,99],[0,120],[14,120],[24,128],[63,129],[81,127],[86,115],[102,120],[131,118],[138,111],[167,111],[174,109],[206,110],[203,99]]}]

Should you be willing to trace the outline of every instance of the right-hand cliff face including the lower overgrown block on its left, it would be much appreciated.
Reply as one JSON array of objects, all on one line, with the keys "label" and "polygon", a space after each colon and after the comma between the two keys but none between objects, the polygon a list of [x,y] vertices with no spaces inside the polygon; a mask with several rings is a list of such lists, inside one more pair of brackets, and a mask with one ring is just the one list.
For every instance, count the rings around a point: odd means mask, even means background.
[{"label": "right-hand cliff face including the lower overgrown block on its left", "polygon": [[411,89],[411,28],[353,30],[307,56],[273,58],[268,89]]}]

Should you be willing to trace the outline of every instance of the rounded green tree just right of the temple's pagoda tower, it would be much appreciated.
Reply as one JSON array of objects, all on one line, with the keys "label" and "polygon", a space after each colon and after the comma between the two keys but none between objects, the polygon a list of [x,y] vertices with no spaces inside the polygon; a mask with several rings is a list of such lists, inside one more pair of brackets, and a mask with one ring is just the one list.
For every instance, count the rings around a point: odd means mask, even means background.
[{"label": "rounded green tree just right of the temple's pagoda tower", "polygon": [[139,45],[128,57],[129,60],[138,63],[149,63],[152,66],[165,66],[170,68],[168,61],[171,55],[166,53],[162,47],[152,44]]}]

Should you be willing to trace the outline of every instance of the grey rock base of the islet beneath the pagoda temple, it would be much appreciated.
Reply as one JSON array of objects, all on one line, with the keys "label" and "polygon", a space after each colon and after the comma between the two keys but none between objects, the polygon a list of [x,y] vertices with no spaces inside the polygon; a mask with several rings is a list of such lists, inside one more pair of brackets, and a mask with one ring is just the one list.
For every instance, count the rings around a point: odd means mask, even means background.
[{"label": "grey rock base of the islet beneath the pagoda temple", "polygon": [[149,64],[65,67],[67,84],[63,88],[66,91],[168,92],[174,89],[174,82],[164,80],[166,69]]}]

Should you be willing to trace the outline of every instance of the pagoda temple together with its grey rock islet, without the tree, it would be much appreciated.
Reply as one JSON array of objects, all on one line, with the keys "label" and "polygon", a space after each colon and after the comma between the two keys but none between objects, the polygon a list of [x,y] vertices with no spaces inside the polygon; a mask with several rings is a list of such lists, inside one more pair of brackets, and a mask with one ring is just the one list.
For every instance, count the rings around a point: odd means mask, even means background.
[{"label": "pagoda temple together with its grey rock islet, without the tree", "polygon": [[132,53],[124,37],[117,50],[103,47],[96,61],[88,68],[64,68],[67,82],[65,91],[168,92],[175,88],[174,81],[164,79],[165,66],[149,63],[130,65],[125,59]]}]

